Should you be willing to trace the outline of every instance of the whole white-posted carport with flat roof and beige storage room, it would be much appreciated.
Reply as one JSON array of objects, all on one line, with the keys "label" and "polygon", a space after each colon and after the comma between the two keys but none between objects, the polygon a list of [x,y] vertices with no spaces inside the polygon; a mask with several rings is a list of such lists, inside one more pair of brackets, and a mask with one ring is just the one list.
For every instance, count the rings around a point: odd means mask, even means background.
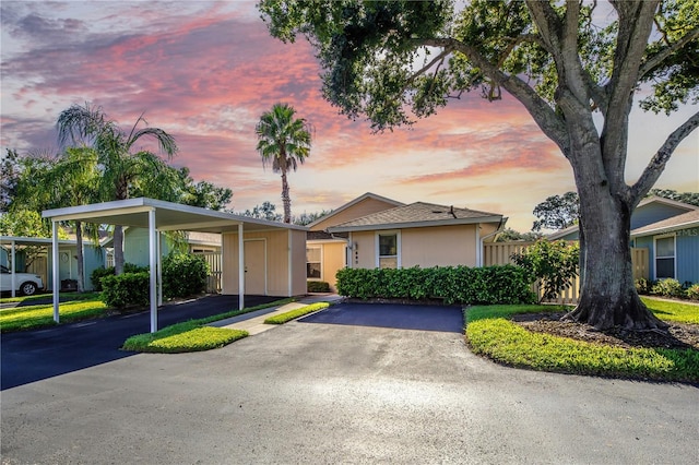
[{"label": "whole white-posted carport with flat roof and beige storage room", "polygon": [[[149,263],[151,270],[151,332],[157,331],[157,307],[162,305],[161,251],[157,235],[185,230],[216,233],[223,236],[223,294],[238,294],[239,308],[245,307],[246,263],[254,263],[263,273],[263,294],[287,297],[306,293],[306,227],[268,222],[247,216],[154,199],[139,198],[91,205],[47,210],[45,218],[52,222],[54,320],[58,314],[58,224],[81,220],[106,225],[146,228],[149,230]],[[246,242],[262,243],[253,249],[254,257],[246,262]],[[271,250],[268,250],[271,249]],[[244,272],[240,272],[244,271]],[[237,279],[235,279],[237,278]]]}]

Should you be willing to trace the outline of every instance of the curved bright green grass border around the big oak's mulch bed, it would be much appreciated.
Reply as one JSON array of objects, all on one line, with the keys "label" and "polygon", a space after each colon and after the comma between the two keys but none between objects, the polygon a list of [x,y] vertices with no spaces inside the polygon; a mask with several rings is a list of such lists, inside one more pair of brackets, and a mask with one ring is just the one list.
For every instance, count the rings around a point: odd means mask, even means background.
[{"label": "curved bright green grass border around the big oak's mulch bed", "polygon": [[[549,306],[473,307],[465,311],[466,339],[475,354],[518,368],[613,378],[699,382],[699,350],[609,347],[532,333],[508,319],[516,313],[560,310],[560,307]],[[663,311],[673,315],[683,313],[683,310],[675,308]],[[695,306],[694,312],[699,313],[699,307]],[[685,312],[684,318],[690,319],[689,313]]]}]

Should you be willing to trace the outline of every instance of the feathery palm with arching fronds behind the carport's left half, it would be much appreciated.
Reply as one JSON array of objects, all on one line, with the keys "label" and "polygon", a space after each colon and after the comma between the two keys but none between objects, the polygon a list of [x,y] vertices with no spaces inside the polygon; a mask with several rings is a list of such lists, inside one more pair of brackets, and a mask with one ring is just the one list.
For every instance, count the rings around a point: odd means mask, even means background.
[{"label": "feathery palm with arching fronds behind the carport's left half", "polygon": [[[168,171],[165,162],[147,151],[131,153],[133,144],[141,138],[154,139],[159,150],[170,159],[177,153],[175,139],[158,128],[142,128],[147,124],[141,115],[129,133],[123,132],[115,121],[107,118],[102,107],[73,105],[61,111],[56,123],[59,144],[88,144],[97,153],[102,180],[99,193],[103,201],[129,199],[130,190],[140,184],[140,191],[147,195],[153,190],[163,198],[167,183],[143,182],[145,178],[158,177]],[[123,270],[123,231],[121,226],[114,229],[115,271]]]}]

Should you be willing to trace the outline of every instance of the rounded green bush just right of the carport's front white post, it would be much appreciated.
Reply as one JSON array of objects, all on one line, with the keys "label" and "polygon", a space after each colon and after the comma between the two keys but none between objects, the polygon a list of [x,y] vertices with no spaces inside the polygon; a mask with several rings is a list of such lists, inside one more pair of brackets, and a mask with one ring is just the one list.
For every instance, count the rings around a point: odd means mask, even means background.
[{"label": "rounded green bush just right of the carport's front white post", "polygon": [[206,290],[209,263],[199,255],[175,252],[163,260],[163,295],[187,297]]}]

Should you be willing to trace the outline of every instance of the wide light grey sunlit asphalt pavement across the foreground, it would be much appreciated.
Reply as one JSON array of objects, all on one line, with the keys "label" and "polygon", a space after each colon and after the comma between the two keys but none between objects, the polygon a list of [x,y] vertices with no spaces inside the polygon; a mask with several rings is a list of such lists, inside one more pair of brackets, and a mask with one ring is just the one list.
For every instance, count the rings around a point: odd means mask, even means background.
[{"label": "wide light grey sunlit asphalt pavement across the foreground", "polygon": [[694,386],[500,367],[450,331],[291,322],[5,390],[1,452],[8,464],[695,464],[698,403]]}]

